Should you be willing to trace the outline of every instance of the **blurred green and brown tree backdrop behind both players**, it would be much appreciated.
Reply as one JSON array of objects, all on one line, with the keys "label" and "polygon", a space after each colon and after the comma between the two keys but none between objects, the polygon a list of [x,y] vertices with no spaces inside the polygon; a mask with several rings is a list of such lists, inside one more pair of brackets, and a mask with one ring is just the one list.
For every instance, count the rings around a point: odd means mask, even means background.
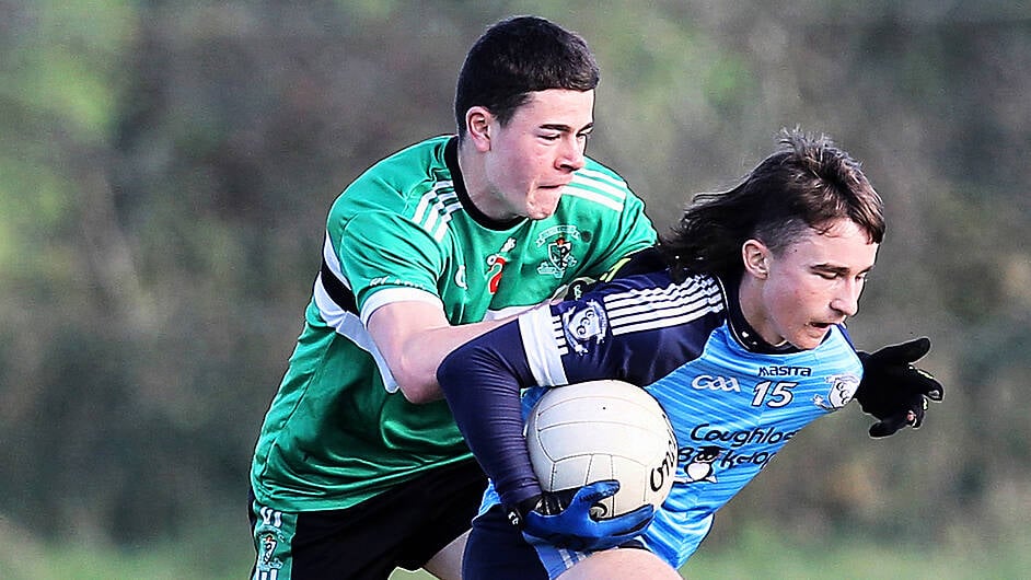
[{"label": "blurred green and brown tree backdrop behind both players", "polygon": [[0,0],[0,537],[250,558],[251,452],[328,205],[453,131],[466,49],[516,13],[592,45],[589,152],[660,229],[781,127],[830,135],[885,198],[850,328],[867,349],[930,336],[946,401],[887,440],[858,408],[818,422],[706,547],[750,522],[1031,534],[1027,4]]}]

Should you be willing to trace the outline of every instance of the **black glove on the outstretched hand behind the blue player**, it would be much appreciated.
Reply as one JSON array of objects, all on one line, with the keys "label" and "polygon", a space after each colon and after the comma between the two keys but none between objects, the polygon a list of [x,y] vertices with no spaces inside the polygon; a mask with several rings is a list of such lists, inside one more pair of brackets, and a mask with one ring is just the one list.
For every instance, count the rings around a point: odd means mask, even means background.
[{"label": "black glove on the outstretched hand behind the blue player", "polygon": [[887,437],[906,425],[918,429],[927,399],[941,401],[941,383],[912,364],[928,350],[930,339],[923,337],[887,346],[872,355],[858,352],[862,381],[856,388],[856,401],[864,411],[879,419],[870,427],[870,437]]}]

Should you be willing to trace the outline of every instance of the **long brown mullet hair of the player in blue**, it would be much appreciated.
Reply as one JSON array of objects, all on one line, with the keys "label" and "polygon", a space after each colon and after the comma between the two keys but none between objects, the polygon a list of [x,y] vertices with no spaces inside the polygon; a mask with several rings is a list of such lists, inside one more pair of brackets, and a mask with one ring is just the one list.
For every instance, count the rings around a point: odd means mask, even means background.
[{"label": "long brown mullet hair of the player in blue", "polygon": [[859,162],[826,136],[783,129],[778,150],[740,184],[695,196],[659,247],[676,279],[688,272],[733,277],[744,267],[745,241],[776,253],[838,219],[855,222],[871,243],[884,237],[883,202]]}]

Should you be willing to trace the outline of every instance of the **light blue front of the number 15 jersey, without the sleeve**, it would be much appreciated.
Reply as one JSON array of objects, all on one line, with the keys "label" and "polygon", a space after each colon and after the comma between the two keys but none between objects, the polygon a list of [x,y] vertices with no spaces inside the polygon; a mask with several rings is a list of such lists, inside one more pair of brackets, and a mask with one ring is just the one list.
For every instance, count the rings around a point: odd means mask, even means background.
[{"label": "light blue front of the number 15 jersey, without the sleeve", "polygon": [[700,357],[646,387],[674,426],[680,453],[673,489],[645,544],[683,566],[716,510],[803,427],[847,403],[860,373],[837,327],[815,350],[785,355],[750,352],[726,324],[714,329]]}]

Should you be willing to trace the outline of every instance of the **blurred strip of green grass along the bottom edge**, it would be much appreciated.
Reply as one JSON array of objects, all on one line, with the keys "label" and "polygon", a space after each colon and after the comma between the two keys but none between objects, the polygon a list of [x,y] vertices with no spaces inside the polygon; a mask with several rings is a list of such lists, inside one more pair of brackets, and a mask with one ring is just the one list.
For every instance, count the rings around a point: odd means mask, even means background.
[{"label": "blurred strip of green grass along the bottom edge", "polygon": [[[202,542],[202,548],[165,544],[134,550],[34,543],[0,533],[0,578],[8,580],[243,579],[248,547]],[[215,537],[219,537],[216,535]],[[703,546],[681,570],[691,579],[878,579],[981,580],[1031,578],[1031,530],[1012,537],[958,534],[930,547],[874,545],[868,540],[791,542],[774,530],[751,527],[732,542]],[[429,580],[424,572],[397,571],[391,580]]]}]

